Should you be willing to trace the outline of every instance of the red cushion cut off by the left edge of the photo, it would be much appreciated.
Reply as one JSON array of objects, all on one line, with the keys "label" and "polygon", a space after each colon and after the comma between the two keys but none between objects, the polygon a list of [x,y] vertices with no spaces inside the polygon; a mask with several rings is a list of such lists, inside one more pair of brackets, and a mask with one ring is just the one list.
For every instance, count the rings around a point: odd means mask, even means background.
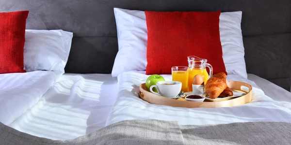
[{"label": "red cushion cut off by the left edge of the photo", "polygon": [[0,73],[25,73],[23,48],[29,11],[0,13]]}]

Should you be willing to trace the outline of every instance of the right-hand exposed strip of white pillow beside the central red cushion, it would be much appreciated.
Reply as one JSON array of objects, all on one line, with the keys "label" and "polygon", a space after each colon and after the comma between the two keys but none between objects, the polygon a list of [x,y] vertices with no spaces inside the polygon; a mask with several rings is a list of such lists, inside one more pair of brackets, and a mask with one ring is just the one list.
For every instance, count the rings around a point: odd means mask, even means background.
[{"label": "right-hand exposed strip of white pillow beside the central red cushion", "polygon": [[221,13],[219,16],[220,42],[226,73],[247,78],[241,22],[242,11]]}]

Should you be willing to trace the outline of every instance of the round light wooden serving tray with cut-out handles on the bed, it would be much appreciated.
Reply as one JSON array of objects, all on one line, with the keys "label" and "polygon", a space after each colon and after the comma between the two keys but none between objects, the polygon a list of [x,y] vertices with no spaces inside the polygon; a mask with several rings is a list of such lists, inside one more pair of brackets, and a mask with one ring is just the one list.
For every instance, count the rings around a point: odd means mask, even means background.
[{"label": "round light wooden serving tray with cut-out handles on the bed", "polygon": [[[140,98],[146,102],[158,105],[167,105],[172,107],[184,107],[184,108],[198,108],[198,107],[206,107],[206,108],[216,108],[216,107],[232,107],[237,105],[242,105],[252,101],[252,86],[238,81],[226,81],[226,84],[229,88],[235,91],[241,91],[246,93],[243,96],[220,101],[220,102],[209,102],[204,100],[204,102],[192,102],[186,101],[184,98],[180,98],[178,100],[174,100],[171,98],[163,97],[160,95],[156,95],[146,90],[146,84],[142,84],[140,86]],[[242,87],[247,87],[248,90],[244,90]]]}]

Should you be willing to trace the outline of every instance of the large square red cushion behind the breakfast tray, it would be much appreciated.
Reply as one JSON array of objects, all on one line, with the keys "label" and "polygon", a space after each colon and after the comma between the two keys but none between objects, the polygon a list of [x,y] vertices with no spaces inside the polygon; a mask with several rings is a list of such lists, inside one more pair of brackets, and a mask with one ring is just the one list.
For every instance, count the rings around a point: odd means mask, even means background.
[{"label": "large square red cushion behind the breakfast tray", "polygon": [[146,11],[146,74],[171,74],[188,66],[187,57],[206,58],[213,74],[224,72],[218,12]]}]

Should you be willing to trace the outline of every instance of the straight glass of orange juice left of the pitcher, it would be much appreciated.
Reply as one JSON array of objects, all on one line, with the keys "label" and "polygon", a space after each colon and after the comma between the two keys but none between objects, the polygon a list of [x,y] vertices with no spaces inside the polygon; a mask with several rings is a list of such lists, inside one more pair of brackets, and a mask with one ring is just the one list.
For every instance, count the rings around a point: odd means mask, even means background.
[{"label": "straight glass of orange juice left of the pitcher", "polygon": [[[182,83],[181,91],[187,92],[188,88],[188,67],[184,66],[175,66],[172,67],[172,79],[173,81],[179,81]],[[192,88],[192,86],[191,86]]]}]

